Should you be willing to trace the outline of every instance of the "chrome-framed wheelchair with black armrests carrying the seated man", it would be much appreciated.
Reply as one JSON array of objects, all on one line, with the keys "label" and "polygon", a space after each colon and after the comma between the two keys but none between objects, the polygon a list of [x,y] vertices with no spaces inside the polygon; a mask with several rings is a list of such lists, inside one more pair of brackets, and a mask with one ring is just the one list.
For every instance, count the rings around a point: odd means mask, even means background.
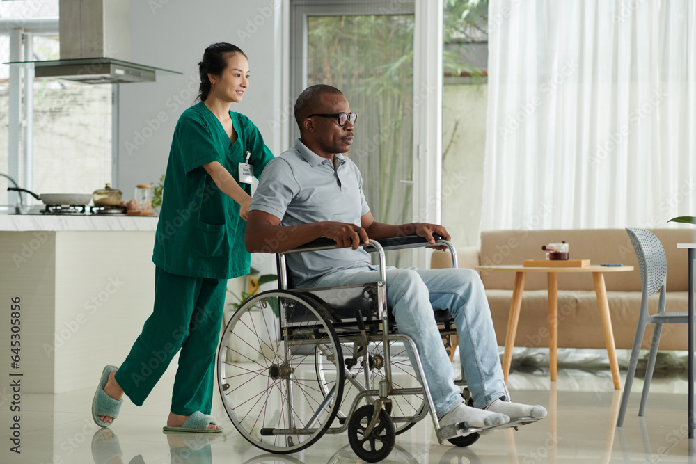
[{"label": "chrome-framed wheelchair with black armrests carrying the seated man", "polygon": [[[450,250],[456,268],[454,247],[437,244]],[[429,243],[411,236],[362,246],[377,253],[377,282],[290,289],[285,255],[335,248],[333,240],[319,239],[278,253],[278,290],[248,298],[227,324],[216,360],[219,392],[232,424],[256,447],[294,453],[324,433],[347,431],[358,457],[376,462],[390,454],[396,435],[427,416],[440,444],[466,447],[480,437],[481,429],[466,422],[440,426],[416,344],[399,333],[387,308],[385,251]],[[453,350],[452,317],[435,314]],[[455,383],[470,402],[463,376]]]}]

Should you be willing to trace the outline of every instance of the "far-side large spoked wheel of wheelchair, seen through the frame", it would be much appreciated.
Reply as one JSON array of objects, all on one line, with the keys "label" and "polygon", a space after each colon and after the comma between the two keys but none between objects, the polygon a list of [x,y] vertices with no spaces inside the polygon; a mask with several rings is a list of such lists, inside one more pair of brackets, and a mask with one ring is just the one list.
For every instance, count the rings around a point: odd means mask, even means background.
[{"label": "far-side large spoked wheel of wheelchair, seen through the frame", "polygon": [[[346,377],[343,390],[341,409],[338,417],[344,422],[349,413],[355,395],[368,389],[377,390],[379,381],[385,378],[384,375],[384,349],[383,342],[371,342],[367,347],[367,356],[363,355],[354,358],[354,345],[351,342],[342,342],[343,360],[350,371],[351,378]],[[406,351],[404,342],[394,340],[389,342],[389,352],[392,367],[392,385],[394,388],[420,388],[420,382],[416,377],[416,371],[411,365],[411,360]],[[335,382],[335,366],[328,362],[326,356],[317,351],[315,353],[317,365],[317,379],[319,387],[324,394],[327,394]],[[355,363],[353,365],[353,363]],[[370,384],[365,386],[365,365],[368,367]],[[347,374],[345,374],[347,376]],[[356,385],[358,384],[358,385]],[[425,399],[422,394],[413,395],[392,395],[391,416],[395,426],[396,434],[404,433],[411,429],[416,422],[408,422],[406,417],[414,417],[422,412],[425,406]]]}]

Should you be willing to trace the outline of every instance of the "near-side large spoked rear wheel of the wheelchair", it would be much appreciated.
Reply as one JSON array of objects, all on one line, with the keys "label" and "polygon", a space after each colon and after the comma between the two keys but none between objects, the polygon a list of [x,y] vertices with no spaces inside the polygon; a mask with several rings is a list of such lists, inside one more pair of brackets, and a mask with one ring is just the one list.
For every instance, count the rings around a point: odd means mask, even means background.
[{"label": "near-side large spoked rear wheel of the wheelchair", "polygon": [[[277,303],[277,304],[276,304]],[[280,308],[280,317],[273,307]],[[249,298],[227,324],[218,351],[218,386],[232,424],[273,453],[305,449],[338,413],[343,372],[327,392],[314,378],[315,351],[342,365],[338,337],[324,310],[301,294],[271,290]]]}]

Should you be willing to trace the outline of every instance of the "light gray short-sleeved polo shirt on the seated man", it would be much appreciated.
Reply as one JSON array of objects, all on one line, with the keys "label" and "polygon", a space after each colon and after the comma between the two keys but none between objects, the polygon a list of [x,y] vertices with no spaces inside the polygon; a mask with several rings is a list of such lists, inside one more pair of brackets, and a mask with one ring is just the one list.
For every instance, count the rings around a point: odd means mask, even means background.
[{"label": "light gray short-sleeved polo shirt on the seated man", "polygon": [[[363,195],[363,177],[358,167],[342,154],[319,157],[299,138],[294,147],[271,159],[264,168],[251,199],[250,211],[264,211],[280,219],[280,225],[319,221],[360,224],[370,211]],[[370,264],[363,248],[309,251],[287,255],[292,282],[312,287],[322,275]]]}]

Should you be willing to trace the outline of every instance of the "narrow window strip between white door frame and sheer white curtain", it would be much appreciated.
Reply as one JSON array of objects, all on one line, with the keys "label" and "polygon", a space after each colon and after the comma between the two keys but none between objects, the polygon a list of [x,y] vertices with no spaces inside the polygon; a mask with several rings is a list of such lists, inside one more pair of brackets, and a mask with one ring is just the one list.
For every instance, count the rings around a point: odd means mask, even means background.
[{"label": "narrow window strip between white door frame and sheer white curtain", "polygon": [[442,221],[458,246],[476,246],[481,223],[488,107],[488,1],[445,0]]}]

